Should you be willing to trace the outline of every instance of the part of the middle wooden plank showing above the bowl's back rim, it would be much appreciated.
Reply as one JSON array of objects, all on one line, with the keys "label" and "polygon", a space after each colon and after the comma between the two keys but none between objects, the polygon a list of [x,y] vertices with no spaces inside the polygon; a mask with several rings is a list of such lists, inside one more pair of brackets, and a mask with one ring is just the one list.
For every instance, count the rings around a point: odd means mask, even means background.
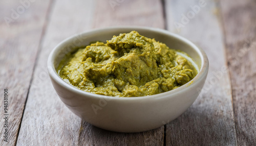
[{"label": "part of the middle wooden plank showing above the bowl's back rim", "polygon": [[94,15],[94,28],[108,26],[146,26],[164,28],[160,0],[98,0]]}]

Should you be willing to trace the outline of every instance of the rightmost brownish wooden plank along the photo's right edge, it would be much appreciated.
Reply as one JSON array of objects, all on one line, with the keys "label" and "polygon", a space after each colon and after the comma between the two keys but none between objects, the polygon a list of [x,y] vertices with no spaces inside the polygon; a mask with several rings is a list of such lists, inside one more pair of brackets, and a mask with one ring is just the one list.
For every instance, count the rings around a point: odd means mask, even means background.
[{"label": "rightmost brownish wooden plank along the photo's right edge", "polygon": [[221,1],[238,145],[256,145],[256,3]]}]

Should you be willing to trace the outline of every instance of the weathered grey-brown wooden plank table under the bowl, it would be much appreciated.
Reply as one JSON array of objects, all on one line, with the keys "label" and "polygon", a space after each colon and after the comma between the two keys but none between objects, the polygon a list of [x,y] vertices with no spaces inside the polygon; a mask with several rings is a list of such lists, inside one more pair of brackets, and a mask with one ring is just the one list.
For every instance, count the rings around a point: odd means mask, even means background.
[{"label": "weathered grey-brown wooden plank table under the bowl", "polygon": [[[0,1],[0,145],[256,145],[256,1],[21,2]],[[82,121],[59,100],[48,76],[48,55],[61,40],[122,25],[177,33],[209,58],[199,98],[155,130],[116,133]]]}]

